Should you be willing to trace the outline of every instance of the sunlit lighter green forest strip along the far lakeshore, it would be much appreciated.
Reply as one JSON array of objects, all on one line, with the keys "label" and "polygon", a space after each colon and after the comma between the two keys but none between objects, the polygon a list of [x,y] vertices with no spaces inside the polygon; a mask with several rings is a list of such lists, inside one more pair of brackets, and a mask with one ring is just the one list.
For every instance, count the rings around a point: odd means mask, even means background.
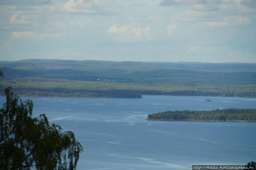
[{"label": "sunlit lighter green forest strip along the far lakeshore", "polygon": [[[150,83],[79,81],[46,78],[17,78],[3,80],[3,87],[13,87],[17,96],[49,97],[122,97],[141,98],[146,95],[186,96],[248,96],[256,97],[255,85],[182,86]],[[3,88],[0,88],[3,91]],[[225,94],[225,95],[223,95]]]}]

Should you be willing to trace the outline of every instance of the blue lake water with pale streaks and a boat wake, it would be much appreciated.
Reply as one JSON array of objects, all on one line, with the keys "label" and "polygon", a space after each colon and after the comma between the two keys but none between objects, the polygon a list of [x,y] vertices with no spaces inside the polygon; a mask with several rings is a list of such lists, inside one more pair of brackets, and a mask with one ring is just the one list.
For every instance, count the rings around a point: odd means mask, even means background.
[{"label": "blue lake water with pale streaks and a boat wake", "polygon": [[[37,98],[33,116],[75,133],[84,147],[82,169],[191,169],[192,165],[245,165],[256,161],[256,122],[149,121],[167,110],[256,109],[256,98],[143,96]],[[210,99],[212,102],[204,102]],[[5,97],[0,97],[0,103]],[[100,119],[100,121],[99,121]]]}]

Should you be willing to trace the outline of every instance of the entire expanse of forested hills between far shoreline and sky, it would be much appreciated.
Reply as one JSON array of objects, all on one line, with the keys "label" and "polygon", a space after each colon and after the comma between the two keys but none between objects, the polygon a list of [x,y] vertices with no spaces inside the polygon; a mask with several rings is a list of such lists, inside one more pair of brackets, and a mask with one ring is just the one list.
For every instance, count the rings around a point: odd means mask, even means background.
[{"label": "entire expanse of forested hills between far shoreline and sky", "polygon": [[0,70],[0,91],[11,86],[18,96],[256,97],[256,64],[29,59],[0,62]]}]

